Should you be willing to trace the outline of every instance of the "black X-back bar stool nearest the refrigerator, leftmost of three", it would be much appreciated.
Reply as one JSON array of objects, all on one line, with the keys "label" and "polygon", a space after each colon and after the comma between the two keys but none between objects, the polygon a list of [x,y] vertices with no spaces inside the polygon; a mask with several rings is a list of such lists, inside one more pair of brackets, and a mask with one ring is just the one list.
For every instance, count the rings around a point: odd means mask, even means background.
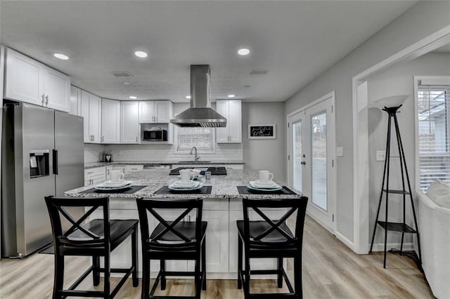
[{"label": "black X-back bar stool nearest the refrigerator, leftmost of three", "polygon": [[[53,248],[55,250],[55,278],[53,281],[53,298],[68,296],[114,298],[130,274],[133,286],[139,284],[137,275],[138,220],[110,220],[108,197],[45,197],[49,209],[51,228],[53,231]],[[85,207],[89,211],[81,218],[74,218],[68,212],[68,207]],[[103,219],[86,219],[97,209],[103,209]],[[61,223],[63,219],[70,222],[70,228],[65,230]],[[111,269],[110,252],[131,235],[131,267],[127,269]],[[92,256],[93,265],[82,274],[68,289],[63,289],[64,256]],[[105,258],[105,266],[100,267],[100,257]],[[93,273],[94,286],[100,283],[100,272],[105,273],[103,291],[76,291],[75,288]],[[110,293],[110,273],[124,273],[124,277]]]}]

